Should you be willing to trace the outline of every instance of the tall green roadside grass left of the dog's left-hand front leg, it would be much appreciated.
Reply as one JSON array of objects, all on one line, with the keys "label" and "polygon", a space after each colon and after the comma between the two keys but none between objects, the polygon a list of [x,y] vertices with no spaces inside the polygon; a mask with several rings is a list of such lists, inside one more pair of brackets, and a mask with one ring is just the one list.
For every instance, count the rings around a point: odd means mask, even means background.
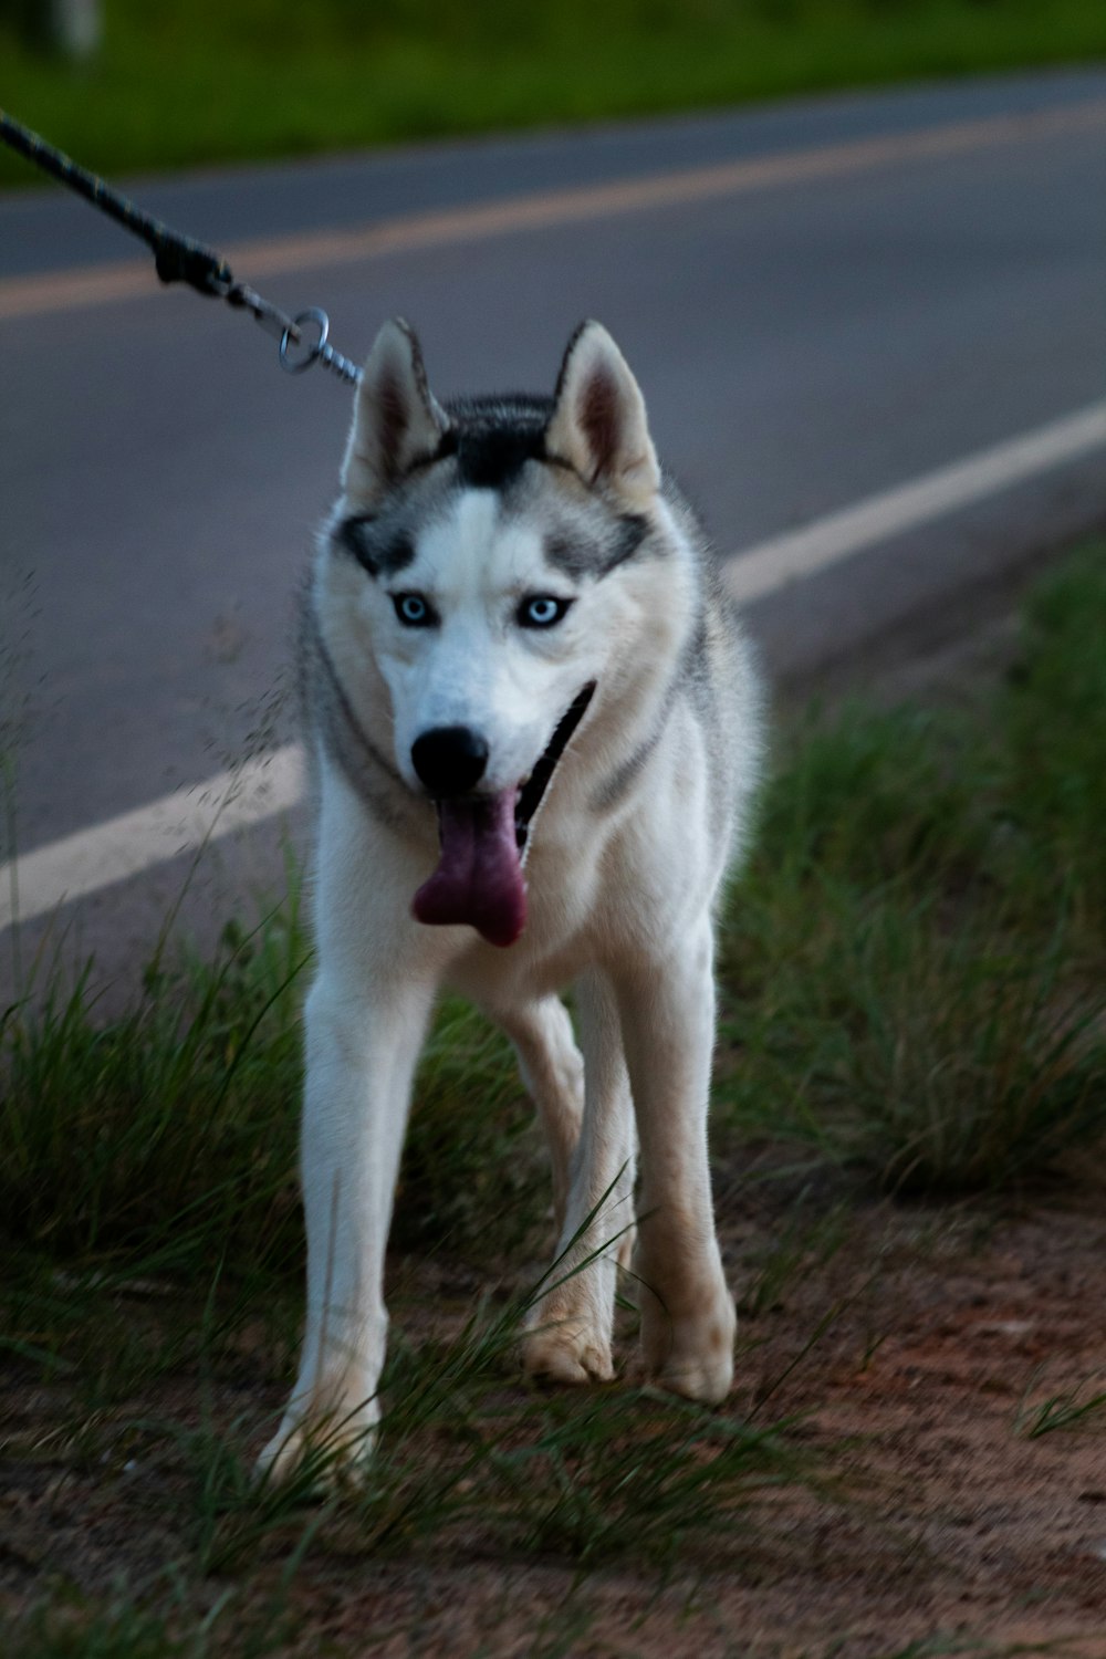
[{"label": "tall green roadside grass left of the dog's left-hand front leg", "polygon": [[292,901],[249,934],[227,927],[214,964],[158,962],[119,1019],[98,1020],[86,975],[10,1007],[0,1204],[12,1243],[99,1264],[139,1253],[148,1272],[189,1274],[216,1236],[226,1249],[255,1239],[259,1259],[293,1239],[305,959]]}]

